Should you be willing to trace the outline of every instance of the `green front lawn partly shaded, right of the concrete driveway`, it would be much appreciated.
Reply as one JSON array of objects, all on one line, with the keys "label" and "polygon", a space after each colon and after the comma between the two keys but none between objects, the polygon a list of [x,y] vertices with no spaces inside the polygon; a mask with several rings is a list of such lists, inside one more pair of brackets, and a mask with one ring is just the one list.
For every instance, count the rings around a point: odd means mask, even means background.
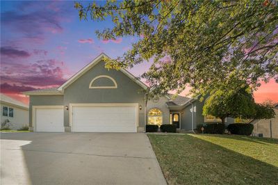
[{"label": "green front lawn partly shaded, right of the concrete driveway", "polygon": [[168,184],[278,184],[278,140],[148,134]]}]

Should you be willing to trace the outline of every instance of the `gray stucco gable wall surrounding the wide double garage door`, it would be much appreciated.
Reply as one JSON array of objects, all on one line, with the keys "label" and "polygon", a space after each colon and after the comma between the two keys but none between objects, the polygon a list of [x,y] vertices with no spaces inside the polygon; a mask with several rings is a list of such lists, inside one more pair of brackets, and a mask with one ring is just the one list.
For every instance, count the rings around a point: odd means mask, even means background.
[{"label": "gray stucco gable wall surrounding the wide double garage door", "polygon": [[[117,88],[95,89],[89,88],[89,84],[95,77],[99,75],[107,75],[115,79]],[[97,84],[104,81],[107,84],[107,79],[97,79]],[[139,127],[144,127],[144,89],[135,81],[130,79],[121,71],[107,70],[104,67],[104,62],[99,62],[92,67],[88,72],[83,74],[79,79],[76,79],[70,86],[64,90],[64,104],[115,104],[115,103],[133,103],[142,106],[139,111]],[[70,111],[64,110],[65,127],[70,127]]]}]

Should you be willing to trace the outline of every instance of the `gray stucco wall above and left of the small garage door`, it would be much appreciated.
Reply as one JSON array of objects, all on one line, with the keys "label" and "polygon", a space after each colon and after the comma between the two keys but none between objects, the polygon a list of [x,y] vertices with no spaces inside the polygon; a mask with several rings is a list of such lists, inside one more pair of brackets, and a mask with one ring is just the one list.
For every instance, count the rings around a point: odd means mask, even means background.
[{"label": "gray stucco wall above and left of the small garage door", "polygon": [[32,125],[33,106],[64,106],[63,95],[30,95],[29,100],[29,127]]}]

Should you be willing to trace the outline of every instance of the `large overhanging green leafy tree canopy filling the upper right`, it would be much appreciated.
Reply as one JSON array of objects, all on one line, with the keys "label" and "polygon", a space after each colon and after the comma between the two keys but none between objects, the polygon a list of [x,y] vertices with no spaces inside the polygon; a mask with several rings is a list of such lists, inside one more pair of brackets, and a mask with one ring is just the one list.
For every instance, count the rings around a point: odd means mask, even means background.
[{"label": "large overhanging green leafy tree canopy filling the upper right", "polygon": [[140,36],[123,56],[106,58],[106,67],[133,67],[153,58],[142,77],[154,94],[179,93],[189,85],[191,93],[204,96],[227,89],[231,79],[252,89],[260,80],[278,82],[277,1],[124,0],[75,8],[80,19],[112,19],[113,28],[97,31],[99,38]]}]

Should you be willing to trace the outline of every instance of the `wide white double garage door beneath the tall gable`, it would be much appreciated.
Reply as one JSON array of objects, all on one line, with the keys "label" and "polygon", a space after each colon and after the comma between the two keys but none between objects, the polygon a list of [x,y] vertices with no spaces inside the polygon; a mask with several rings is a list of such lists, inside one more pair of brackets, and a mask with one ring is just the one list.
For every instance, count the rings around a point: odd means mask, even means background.
[{"label": "wide white double garage door beneath the tall gable", "polygon": [[137,112],[134,104],[72,106],[72,131],[136,132]]}]

